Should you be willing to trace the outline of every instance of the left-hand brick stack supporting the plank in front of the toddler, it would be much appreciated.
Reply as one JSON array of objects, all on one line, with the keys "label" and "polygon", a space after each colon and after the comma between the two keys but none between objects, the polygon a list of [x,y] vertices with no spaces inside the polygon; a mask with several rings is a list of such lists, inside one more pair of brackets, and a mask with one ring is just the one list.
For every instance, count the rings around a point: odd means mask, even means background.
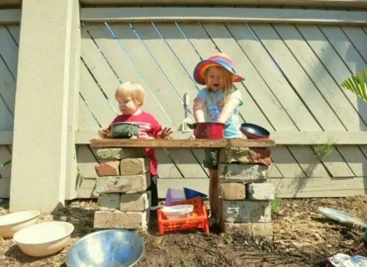
[{"label": "left-hand brick stack supporting the plank in front of the toddler", "polygon": [[144,148],[97,150],[99,211],[94,214],[94,228],[148,229],[150,174],[145,153]]}]

